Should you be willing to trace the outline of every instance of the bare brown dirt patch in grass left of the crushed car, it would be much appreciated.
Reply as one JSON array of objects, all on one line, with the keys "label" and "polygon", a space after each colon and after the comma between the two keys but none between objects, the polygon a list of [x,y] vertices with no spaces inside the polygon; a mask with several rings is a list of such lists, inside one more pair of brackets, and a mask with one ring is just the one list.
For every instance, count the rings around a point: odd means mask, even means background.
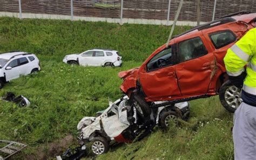
[{"label": "bare brown dirt patch in grass left of the crushed car", "polygon": [[36,151],[36,154],[28,155],[25,159],[49,159],[62,155],[63,151],[68,149],[73,142],[77,142],[72,135],[65,136],[63,139],[42,145]]}]

